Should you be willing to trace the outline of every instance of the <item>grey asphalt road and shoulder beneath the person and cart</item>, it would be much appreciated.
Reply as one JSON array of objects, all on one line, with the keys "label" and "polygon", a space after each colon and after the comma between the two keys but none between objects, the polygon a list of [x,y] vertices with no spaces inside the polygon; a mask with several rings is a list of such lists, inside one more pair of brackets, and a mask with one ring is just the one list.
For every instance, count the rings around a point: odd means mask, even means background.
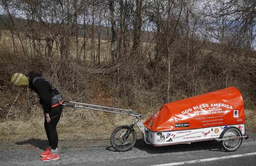
[{"label": "grey asphalt road and shoulder beneath the person and cart", "polygon": [[[48,162],[39,157],[47,141],[31,139],[0,143],[0,166],[256,166],[256,134],[247,132],[247,135],[249,140],[244,139],[235,152],[224,151],[219,142],[213,140],[154,147],[140,139],[128,152],[115,151],[109,140],[61,140],[60,159]],[[239,156],[249,153],[249,156]]]}]

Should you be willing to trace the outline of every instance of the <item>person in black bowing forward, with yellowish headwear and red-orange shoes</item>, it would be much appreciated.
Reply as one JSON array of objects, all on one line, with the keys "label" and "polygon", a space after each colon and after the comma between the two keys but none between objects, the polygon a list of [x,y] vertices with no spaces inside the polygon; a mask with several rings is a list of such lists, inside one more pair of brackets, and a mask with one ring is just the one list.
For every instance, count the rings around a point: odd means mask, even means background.
[{"label": "person in black bowing forward, with yellowish headwear and red-orange shoes", "polygon": [[60,120],[63,105],[63,98],[57,89],[53,88],[51,84],[41,78],[41,74],[35,73],[34,71],[29,72],[29,77],[21,73],[15,73],[11,82],[14,86],[30,87],[37,97],[39,97],[39,103],[43,106],[45,114],[45,130],[47,139],[49,141],[49,148],[46,148],[44,153],[41,153],[41,160],[57,160],[59,159],[58,154],[58,133],[56,131],[57,123]]}]

